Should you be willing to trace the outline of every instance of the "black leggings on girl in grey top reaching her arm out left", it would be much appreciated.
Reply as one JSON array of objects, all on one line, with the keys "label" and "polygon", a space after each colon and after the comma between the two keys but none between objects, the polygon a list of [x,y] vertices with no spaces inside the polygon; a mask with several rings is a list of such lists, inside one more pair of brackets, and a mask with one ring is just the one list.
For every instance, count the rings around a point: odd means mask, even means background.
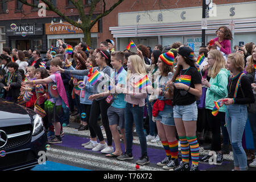
[{"label": "black leggings on girl in grey top reaching her arm out left", "polygon": [[100,101],[93,100],[90,108],[89,126],[92,127],[100,142],[103,141],[104,137],[102,135],[101,127],[98,125],[98,116],[101,114],[101,120],[106,131],[108,146],[112,146],[112,133],[109,127],[109,119],[107,114],[109,106],[110,104],[105,101],[105,98]]}]

